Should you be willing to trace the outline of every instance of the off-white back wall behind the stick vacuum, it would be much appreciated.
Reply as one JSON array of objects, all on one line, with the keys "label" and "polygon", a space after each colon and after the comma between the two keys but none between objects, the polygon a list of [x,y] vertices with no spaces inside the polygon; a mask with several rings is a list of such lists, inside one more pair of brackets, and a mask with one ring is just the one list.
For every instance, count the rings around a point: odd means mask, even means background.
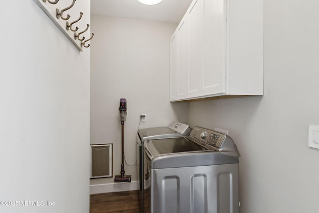
[{"label": "off-white back wall behind the stick vacuum", "polygon": [[[124,152],[136,162],[136,134],[140,128],[167,126],[187,120],[187,103],[169,102],[169,39],[176,24],[106,16],[91,16],[96,32],[91,48],[91,144],[113,143],[113,174],[121,170],[120,98],[127,99]],[[125,166],[137,180],[136,166]],[[91,185],[114,183],[91,179]],[[137,184],[136,184],[137,187]]]}]

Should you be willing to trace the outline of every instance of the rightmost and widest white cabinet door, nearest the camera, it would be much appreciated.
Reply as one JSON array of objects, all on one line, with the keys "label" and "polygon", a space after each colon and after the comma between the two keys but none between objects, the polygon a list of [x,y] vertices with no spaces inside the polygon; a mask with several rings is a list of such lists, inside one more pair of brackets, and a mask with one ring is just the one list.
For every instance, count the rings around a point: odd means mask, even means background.
[{"label": "rightmost and widest white cabinet door, nearest the camera", "polygon": [[205,0],[202,95],[226,92],[226,0]]}]

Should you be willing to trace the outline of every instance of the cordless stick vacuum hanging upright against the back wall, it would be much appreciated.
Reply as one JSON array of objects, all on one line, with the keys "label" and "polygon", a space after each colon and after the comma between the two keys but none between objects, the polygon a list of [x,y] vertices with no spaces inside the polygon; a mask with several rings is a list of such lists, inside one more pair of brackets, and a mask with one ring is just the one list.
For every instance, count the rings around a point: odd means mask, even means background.
[{"label": "cordless stick vacuum hanging upright against the back wall", "polygon": [[120,121],[122,125],[122,164],[121,164],[121,175],[116,175],[114,178],[115,182],[131,182],[130,175],[124,175],[124,121],[126,120],[126,99],[121,98],[120,100]]}]

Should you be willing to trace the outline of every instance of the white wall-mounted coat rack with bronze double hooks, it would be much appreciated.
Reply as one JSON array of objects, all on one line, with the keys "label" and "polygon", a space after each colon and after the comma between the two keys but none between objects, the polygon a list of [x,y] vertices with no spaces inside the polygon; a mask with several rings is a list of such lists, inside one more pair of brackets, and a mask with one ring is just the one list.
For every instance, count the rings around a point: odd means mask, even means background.
[{"label": "white wall-mounted coat rack with bronze double hooks", "polygon": [[[79,51],[83,51],[83,47],[89,47],[90,44],[86,42],[90,41],[94,33],[89,35],[89,39],[85,39],[88,34],[89,24],[85,25],[81,22],[83,12],[80,12],[80,16],[76,16],[74,19],[73,14],[78,14],[74,12],[74,4],[76,0],[34,0],[39,7],[49,16],[49,18],[57,25],[57,27],[66,35],[66,37],[78,48]],[[66,5],[70,3],[70,5]],[[56,6],[54,6],[56,5]],[[72,8],[73,7],[73,8]],[[69,9],[73,9],[73,13],[69,13]],[[71,14],[71,15],[70,15]],[[73,26],[74,24],[79,24],[80,26]],[[84,26],[83,26],[84,25]]]}]

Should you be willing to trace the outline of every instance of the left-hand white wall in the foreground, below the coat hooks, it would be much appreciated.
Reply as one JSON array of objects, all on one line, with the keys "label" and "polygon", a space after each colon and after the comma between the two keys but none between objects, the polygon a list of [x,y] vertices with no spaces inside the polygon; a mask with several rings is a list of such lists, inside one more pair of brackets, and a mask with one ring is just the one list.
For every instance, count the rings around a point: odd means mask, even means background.
[{"label": "left-hand white wall in the foreground, below the coat hooks", "polygon": [[[76,3],[89,23],[90,2]],[[90,50],[33,0],[0,7],[0,201],[55,203],[0,212],[88,213]]]}]

